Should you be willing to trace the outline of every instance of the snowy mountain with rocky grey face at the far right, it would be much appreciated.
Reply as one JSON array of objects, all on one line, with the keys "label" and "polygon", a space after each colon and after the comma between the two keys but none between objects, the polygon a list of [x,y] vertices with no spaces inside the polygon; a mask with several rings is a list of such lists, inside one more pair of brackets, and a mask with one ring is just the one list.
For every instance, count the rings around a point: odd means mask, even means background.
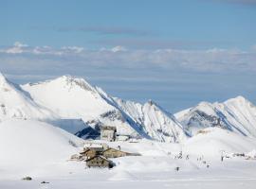
[{"label": "snowy mountain with rocky grey face at the far right", "polygon": [[174,115],[192,135],[200,129],[219,127],[256,137],[256,107],[243,96],[223,103],[201,102]]}]

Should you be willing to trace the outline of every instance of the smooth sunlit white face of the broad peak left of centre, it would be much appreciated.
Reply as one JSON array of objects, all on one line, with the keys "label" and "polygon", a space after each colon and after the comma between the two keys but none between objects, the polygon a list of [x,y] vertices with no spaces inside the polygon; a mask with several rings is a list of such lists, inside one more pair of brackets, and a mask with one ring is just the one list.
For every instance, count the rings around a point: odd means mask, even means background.
[{"label": "smooth sunlit white face of the broad peak left of centre", "polygon": [[28,83],[22,87],[38,104],[62,117],[90,120],[108,110],[114,110],[82,78],[64,76],[40,83]]}]

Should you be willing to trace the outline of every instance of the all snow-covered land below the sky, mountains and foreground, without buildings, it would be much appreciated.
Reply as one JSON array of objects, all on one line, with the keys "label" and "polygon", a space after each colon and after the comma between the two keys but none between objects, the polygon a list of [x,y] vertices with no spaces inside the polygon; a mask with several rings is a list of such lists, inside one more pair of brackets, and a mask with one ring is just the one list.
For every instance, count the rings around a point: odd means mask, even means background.
[{"label": "all snow-covered land below the sky, mountains and foreground, without buildings", "polygon": [[[136,140],[101,141],[102,126]],[[111,169],[70,161],[86,143],[141,156],[115,158]],[[0,189],[255,185],[256,107],[243,96],[172,114],[152,100],[106,94],[83,78],[18,85],[0,74]]]}]

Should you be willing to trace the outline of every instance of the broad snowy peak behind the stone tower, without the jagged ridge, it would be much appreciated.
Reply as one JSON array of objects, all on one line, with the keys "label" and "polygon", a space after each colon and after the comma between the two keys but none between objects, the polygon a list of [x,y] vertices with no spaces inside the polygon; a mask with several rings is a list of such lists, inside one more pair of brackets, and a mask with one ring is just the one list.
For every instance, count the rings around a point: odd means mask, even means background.
[{"label": "broad snowy peak behind the stone tower, without the jagged ridge", "polygon": [[[28,83],[22,88],[36,103],[45,106],[65,119],[82,119],[99,130],[101,126],[115,126],[119,134],[147,137],[137,124],[103,97],[103,91],[83,78],[58,77],[39,83]],[[86,130],[86,129],[85,129]],[[79,136],[84,130],[78,130]]]}]

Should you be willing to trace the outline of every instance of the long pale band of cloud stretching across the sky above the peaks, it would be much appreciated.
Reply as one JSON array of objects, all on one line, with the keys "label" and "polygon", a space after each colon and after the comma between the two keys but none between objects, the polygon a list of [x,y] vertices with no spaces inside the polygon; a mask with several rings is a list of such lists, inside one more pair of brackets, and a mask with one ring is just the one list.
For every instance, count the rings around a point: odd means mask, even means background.
[{"label": "long pale band of cloud stretching across the sky above the peaks", "polygon": [[[123,46],[101,48],[101,50],[84,50],[79,46],[64,46],[53,48],[50,46],[28,46],[14,43],[8,49],[0,49],[0,61],[11,62],[12,66],[23,60],[24,64],[37,66],[38,62],[54,67],[64,66],[94,68],[164,68],[170,71],[195,72],[249,72],[256,71],[256,51],[245,52],[237,49],[207,49],[207,50],[127,50]],[[122,53],[117,53],[122,52]],[[15,57],[19,54],[19,59]],[[17,61],[17,62],[15,62]],[[37,64],[35,63],[37,62]],[[7,65],[8,66],[8,65]],[[32,69],[32,67],[31,67]]]}]

